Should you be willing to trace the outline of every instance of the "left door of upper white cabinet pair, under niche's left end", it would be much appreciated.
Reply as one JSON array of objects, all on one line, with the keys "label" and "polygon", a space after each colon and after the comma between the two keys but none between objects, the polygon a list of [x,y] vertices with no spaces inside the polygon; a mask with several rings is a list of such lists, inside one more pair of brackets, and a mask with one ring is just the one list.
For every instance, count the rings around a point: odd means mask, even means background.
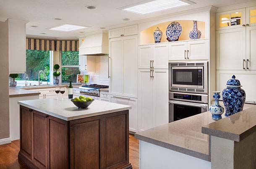
[{"label": "left door of upper white cabinet pair, under niche's left end", "polygon": [[153,60],[152,45],[138,47],[138,68],[149,69]]}]

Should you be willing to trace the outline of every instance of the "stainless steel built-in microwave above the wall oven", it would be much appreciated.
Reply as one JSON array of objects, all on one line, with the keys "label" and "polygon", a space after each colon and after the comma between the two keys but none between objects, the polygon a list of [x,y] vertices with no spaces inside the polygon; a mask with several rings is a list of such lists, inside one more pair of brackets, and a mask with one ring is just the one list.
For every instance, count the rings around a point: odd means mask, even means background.
[{"label": "stainless steel built-in microwave above the wall oven", "polygon": [[169,63],[169,90],[208,93],[208,62]]}]

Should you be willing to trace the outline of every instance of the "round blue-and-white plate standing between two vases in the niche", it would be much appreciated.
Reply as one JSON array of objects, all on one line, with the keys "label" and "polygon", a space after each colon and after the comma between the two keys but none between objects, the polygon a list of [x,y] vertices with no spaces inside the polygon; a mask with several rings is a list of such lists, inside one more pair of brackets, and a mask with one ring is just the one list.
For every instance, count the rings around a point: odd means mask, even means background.
[{"label": "round blue-and-white plate standing between two vases in the niche", "polygon": [[182,27],[178,22],[172,22],[166,28],[166,36],[169,40],[177,40],[182,32]]}]

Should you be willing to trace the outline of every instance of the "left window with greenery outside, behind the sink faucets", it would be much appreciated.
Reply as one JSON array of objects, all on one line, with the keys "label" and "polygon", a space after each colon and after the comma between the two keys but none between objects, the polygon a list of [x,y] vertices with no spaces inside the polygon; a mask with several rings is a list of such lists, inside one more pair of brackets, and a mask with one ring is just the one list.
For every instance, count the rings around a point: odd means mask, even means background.
[{"label": "left window with greenery outside, behind the sink faucets", "polygon": [[19,74],[16,78],[18,86],[25,85],[26,77],[29,77],[29,82],[32,85],[38,82],[39,71],[44,71],[40,73],[40,80],[43,82],[50,82],[50,51],[46,50],[26,50],[26,72]]}]

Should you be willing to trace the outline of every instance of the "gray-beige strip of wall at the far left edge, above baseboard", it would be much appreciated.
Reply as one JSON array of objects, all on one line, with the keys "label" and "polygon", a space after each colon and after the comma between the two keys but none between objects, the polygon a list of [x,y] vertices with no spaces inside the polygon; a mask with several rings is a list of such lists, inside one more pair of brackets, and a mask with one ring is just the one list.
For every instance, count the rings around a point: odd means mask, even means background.
[{"label": "gray-beige strip of wall at the far left edge, above baseboard", "polygon": [[0,22],[0,139],[10,137],[8,39],[8,21]]}]

